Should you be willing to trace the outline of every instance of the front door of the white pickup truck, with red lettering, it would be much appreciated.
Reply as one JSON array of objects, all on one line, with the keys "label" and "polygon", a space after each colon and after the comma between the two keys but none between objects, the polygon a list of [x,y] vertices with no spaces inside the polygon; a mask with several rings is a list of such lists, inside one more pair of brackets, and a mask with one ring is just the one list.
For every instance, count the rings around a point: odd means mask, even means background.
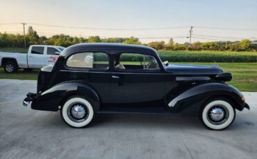
[{"label": "front door of the white pickup truck, with red lettering", "polygon": [[56,60],[58,59],[58,56],[60,55],[60,50],[58,50],[57,48],[53,48],[53,47],[49,47],[47,46],[47,54],[44,58],[44,63],[45,65],[49,65],[49,64],[55,64]]}]

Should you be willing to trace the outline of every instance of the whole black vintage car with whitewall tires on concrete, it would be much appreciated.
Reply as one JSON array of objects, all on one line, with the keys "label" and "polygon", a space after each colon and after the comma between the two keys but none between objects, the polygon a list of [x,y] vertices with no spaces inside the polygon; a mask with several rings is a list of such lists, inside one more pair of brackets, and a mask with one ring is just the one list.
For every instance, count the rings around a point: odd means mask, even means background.
[{"label": "whole black vintage car with whitewall tires on concrete", "polygon": [[238,89],[225,84],[231,73],[218,66],[165,64],[156,50],[124,44],[77,44],[38,75],[37,93],[24,106],[58,111],[71,127],[85,127],[96,113],[198,116],[221,130],[235,109],[249,109]]}]

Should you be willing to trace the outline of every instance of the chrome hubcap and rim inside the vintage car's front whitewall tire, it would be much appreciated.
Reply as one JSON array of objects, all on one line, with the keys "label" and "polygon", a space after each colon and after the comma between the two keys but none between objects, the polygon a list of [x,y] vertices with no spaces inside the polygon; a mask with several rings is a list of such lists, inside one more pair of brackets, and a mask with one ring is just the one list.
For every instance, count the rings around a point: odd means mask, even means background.
[{"label": "chrome hubcap and rim inside the vintage car's front whitewall tire", "polygon": [[223,105],[215,105],[208,110],[207,119],[212,124],[223,124],[228,118],[229,110]]}]

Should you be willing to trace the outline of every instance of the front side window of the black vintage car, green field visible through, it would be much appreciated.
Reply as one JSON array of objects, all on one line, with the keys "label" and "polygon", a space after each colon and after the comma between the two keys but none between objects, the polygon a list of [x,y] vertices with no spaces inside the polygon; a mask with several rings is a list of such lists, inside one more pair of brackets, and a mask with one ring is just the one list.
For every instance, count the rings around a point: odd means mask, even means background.
[{"label": "front side window of the black vintage car, green field visible through", "polygon": [[115,68],[127,70],[157,70],[156,58],[140,53],[122,53],[115,56]]}]

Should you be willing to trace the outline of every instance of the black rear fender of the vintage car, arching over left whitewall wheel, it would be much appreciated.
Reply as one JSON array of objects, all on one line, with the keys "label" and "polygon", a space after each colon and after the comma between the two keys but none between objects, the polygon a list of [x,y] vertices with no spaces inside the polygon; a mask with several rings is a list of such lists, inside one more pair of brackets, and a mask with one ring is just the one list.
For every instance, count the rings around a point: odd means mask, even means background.
[{"label": "black rear fender of the vintage car, arching over left whitewall wheel", "polygon": [[69,81],[52,86],[47,91],[38,94],[38,97],[31,104],[32,109],[42,111],[58,111],[68,97],[72,95],[82,95],[93,102],[94,110],[99,111],[99,95],[90,86],[82,81]]}]

